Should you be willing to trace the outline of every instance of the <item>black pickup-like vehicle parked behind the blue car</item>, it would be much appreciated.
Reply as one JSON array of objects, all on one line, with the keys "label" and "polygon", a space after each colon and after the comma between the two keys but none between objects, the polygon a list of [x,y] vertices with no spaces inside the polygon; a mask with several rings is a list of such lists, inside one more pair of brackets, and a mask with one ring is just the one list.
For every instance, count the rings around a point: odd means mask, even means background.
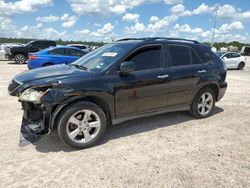
[{"label": "black pickup-like vehicle parked behind the blue car", "polygon": [[51,40],[35,40],[26,45],[10,48],[5,56],[8,60],[14,59],[15,63],[22,64],[28,59],[29,53],[38,52],[50,46],[56,46],[56,42]]}]

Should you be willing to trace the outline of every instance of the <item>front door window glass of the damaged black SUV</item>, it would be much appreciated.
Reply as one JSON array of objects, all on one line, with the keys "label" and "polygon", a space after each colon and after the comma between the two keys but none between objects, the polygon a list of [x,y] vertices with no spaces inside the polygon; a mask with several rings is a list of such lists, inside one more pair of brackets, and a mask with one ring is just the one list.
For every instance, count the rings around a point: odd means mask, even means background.
[{"label": "front door window glass of the damaged black SUV", "polygon": [[157,69],[161,67],[161,46],[142,48],[127,58],[135,64],[135,70]]}]

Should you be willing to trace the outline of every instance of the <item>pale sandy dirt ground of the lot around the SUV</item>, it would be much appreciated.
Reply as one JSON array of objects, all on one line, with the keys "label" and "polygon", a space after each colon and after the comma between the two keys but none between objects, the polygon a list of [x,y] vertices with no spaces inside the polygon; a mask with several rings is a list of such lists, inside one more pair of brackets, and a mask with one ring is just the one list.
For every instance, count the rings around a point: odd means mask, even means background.
[{"label": "pale sandy dirt ground of the lot around the SUV", "polygon": [[22,110],[7,85],[24,70],[0,62],[0,187],[250,187],[250,58],[228,71],[213,116],[129,121],[80,151],[53,135],[18,147]]}]

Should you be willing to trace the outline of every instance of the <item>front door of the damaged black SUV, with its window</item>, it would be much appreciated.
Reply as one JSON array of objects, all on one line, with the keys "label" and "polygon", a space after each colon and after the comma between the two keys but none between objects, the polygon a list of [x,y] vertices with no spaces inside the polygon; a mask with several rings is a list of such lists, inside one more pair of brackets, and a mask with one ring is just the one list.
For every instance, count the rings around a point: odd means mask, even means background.
[{"label": "front door of the damaged black SUV, with its window", "polygon": [[135,71],[116,76],[116,117],[126,117],[164,109],[167,103],[168,77],[163,61],[163,47],[150,45],[137,49],[125,61],[135,64]]}]

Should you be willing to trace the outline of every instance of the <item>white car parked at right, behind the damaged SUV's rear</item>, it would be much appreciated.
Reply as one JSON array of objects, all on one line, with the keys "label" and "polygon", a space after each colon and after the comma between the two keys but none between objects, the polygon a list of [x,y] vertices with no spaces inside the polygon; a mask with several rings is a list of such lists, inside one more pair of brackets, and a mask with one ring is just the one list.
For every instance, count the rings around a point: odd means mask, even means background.
[{"label": "white car parked at right, behind the damaged SUV's rear", "polygon": [[246,64],[246,58],[236,52],[216,52],[226,64],[228,69],[242,70]]}]

